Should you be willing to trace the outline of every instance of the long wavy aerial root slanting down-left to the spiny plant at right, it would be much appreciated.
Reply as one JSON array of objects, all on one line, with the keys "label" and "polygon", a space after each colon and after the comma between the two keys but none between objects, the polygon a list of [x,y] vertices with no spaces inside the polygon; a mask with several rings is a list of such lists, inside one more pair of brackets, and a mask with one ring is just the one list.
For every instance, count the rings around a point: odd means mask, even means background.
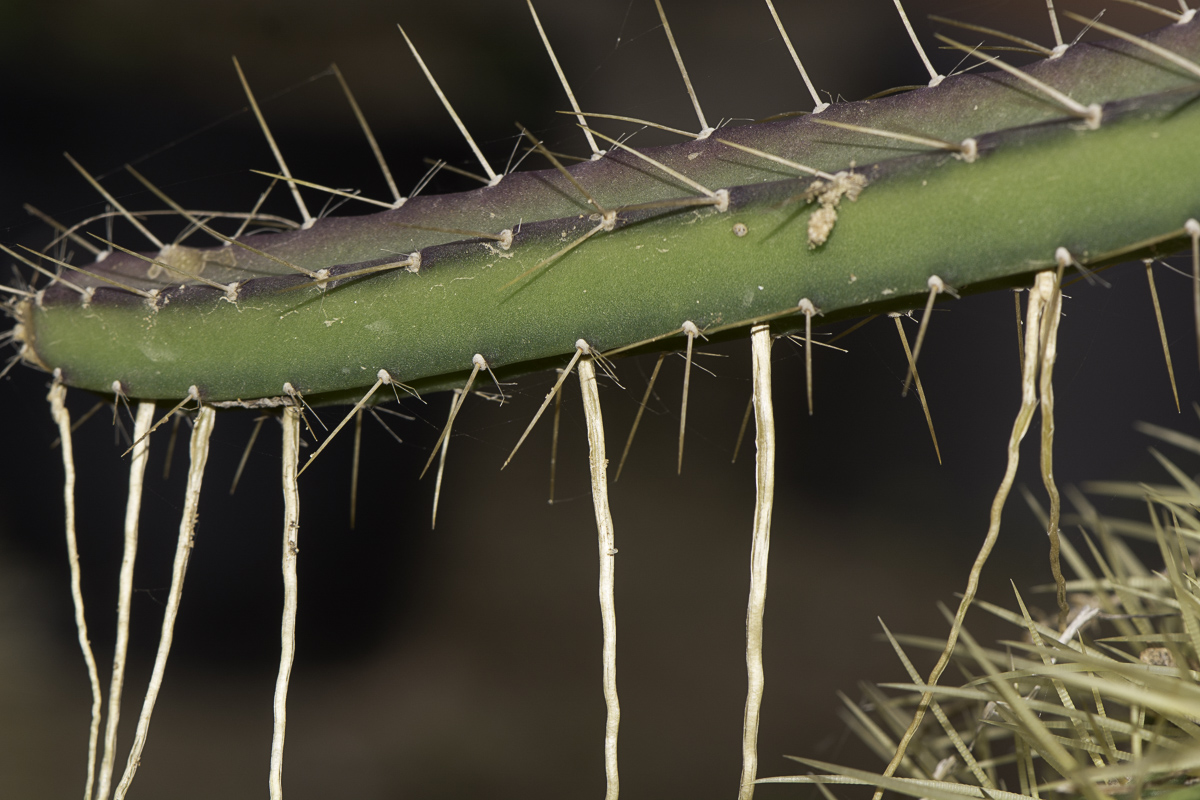
[{"label": "long wavy aerial root slanting down-left to the spiny plant at right", "polygon": [[[992,499],[988,534],[984,537],[978,555],[976,555],[974,564],[971,566],[971,573],[967,577],[967,587],[962,593],[958,612],[954,614],[954,620],[950,625],[950,633],[947,637],[946,646],[942,649],[942,652],[937,658],[937,663],[930,672],[929,680],[925,681],[926,691],[920,696],[920,702],[917,705],[916,714],[913,714],[912,722],[908,724],[907,730],[905,730],[904,736],[900,739],[900,744],[896,746],[896,752],[892,757],[892,762],[883,771],[886,777],[895,775],[896,768],[905,758],[908,744],[912,741],[917,729],[920,727],[922,721],[925,718],[925,711],[929,709],[930,703],[934,699],[932,690],[950,662],[950,655],[954,652],[959,633],[962,630],[962,621],[966,618],[967,609],[974,602],[984,564],[986,564],[988,557],[991,554],[991,551],[996,545],[996,540],[1000,536],[1000,518],[1004,510],[1004,503],[1008,500],[1008,494],[1013,488],[1013,480],[1016,477],[1021,440],[1030,429],[1030,423],[1033,420],[1033,411],[1038,405],[1038,369],[1042,366],[1040,354],[1043,345],[1046,344],[1040,339],[1043,333],[1046,336],[1057,336],[1057,324],[1048,326],[1044,331],[1042,326],[1042,317],[1043,313],[1046,312],[1048,306],[1057,307],[1057,301],[1055,300],[1056,294],[1060,294],[1061,296],[1061,293],[1058,291],[1057,271],[1046,270],[1044,272],[1039,272],[1033,288],[1030,290],[1030,299],[1025,314],[1026,333],[1025,355],[1022,360],[1024,368],[1021,371],[1021,407],[1016,413],[1016,419],[1013,421],[1013,431],[1009,434],[1008,464],[1004,469],[1004,476],[1001,480],[1000,488],[996,491],[996,497]],[[872,800],[880,800],[882,796],[883,790],[876,789]]]}]

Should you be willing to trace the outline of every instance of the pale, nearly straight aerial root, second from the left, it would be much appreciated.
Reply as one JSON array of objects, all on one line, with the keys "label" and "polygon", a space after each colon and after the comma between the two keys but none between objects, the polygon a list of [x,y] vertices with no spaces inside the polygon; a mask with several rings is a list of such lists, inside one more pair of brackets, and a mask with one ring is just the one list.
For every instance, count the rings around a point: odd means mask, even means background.
[{"label": "pale, nearly straight aerial root, second from the left", "polygon": [[142,487],[150,455],[150,423],[154,403],[138,403],[133,422],[133,458],[130,459],[130,494],[125,504],[125,552],[116,591],[116,645],[113,651],[113,678],[108,686],[108,723],[104,726],[104,756],[96,784],[97,800],[108,800],[116,759],[116,727],[121,718],[121,690],[125,686],[125,660],[130,646],[130,607],[133,599],[133,563],[138,557],[138,517],[142,511]]}]

